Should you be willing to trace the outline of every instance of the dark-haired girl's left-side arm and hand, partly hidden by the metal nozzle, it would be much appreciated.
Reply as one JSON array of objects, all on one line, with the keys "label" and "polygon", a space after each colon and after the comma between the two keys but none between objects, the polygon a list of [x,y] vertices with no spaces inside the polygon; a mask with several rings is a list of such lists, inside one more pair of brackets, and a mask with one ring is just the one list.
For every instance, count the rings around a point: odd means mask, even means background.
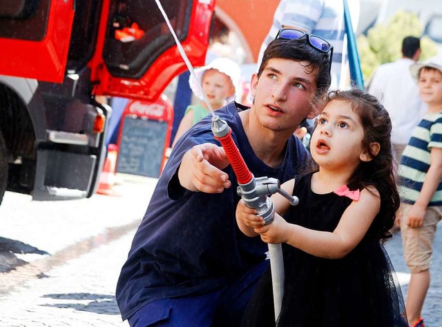
[{"label": "dark-haired girl's left-side arm and hand, partly hidden by the metal nozzle", "polygon": [[[291,179],[289,181],[286,181],[285,184],[282,184],[281,188],[291,194],[294,188],[294,184],[295,180]],[[287,209],[290,207],[289,201],[278,193],[272,195],[271,200],[273,201],[273,206],[275,206],[275,211],[280,213],[280,215],[284,215],[285,212],[287,212]],[[257,216],[256,213],[256,209],[249,208],[244,204],[244,201],[242,200],[240,200],[238,206],[236,207],[236,222],[238,223],[238,227],[245,235],[249,237],[259,235],[259,233],[256,232],[254,228],[265,225],[264,219],[260,216]]]}]

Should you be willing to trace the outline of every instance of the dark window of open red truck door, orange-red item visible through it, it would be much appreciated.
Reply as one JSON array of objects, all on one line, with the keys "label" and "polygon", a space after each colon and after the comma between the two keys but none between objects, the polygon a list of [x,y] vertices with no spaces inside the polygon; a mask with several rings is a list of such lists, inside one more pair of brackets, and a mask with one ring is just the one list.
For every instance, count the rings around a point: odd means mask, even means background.
[{"label": "dark window of open red truck door, orange-red item visible through it", "polygon": [[[162,0],[180,40],[189,30],[191,0]],[[142,1],[114,0],[111,6],[103,57],[115,77],[139,79],[167,49],[175,46],[160,10]]]}]

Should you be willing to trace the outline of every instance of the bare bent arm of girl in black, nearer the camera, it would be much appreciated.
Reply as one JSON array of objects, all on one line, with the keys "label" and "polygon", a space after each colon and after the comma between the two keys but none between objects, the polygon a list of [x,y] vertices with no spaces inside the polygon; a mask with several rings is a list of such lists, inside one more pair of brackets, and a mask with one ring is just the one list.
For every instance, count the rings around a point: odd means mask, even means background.
[{"label": "bare bent arm of girl in black, nearer the camera", "polygon": [[255,228],[255,232],[267,243],[287,243],[316,257],[340,259],[363,239],[381,208],[378,192],[373,192],[375,195],[362,190],[360,199],[348,206],[333,232],[289,224],[280,215],[275,215],[272,224]]}]

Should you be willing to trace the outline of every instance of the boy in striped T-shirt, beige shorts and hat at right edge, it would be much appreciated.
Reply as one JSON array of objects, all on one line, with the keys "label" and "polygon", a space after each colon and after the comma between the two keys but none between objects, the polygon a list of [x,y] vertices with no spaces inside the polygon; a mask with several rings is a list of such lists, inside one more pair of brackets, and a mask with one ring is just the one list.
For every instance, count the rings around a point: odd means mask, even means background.
[{"label": "boy in striped T-shirt, beige shorts and hat at right edge", "polygon": [[403,252],[412,273],[408,286],[408,323],[423,327],[421,310],[430,287],[430,259],[436,224],[442,217],[442,57],[410,66],[427,103],[427,114],[405,147],[399,177]]}]

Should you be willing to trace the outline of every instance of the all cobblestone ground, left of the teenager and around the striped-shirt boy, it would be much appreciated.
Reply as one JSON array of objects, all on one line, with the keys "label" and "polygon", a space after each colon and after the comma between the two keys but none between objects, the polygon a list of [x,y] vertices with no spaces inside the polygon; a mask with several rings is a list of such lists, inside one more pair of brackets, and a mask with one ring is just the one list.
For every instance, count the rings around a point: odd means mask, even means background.
[{"label": "all cobblestone ground, left of the teenager and around the striped-shirt boy", "polygon": [[[0,273],[0,326],[128,326],[119,316],[115,284],[155,184],[156,179],[129,180],[112,196],[78,201],[33,202],[7,193],[0,208],[0,237],[39,252],[17,255],[29,264]],[[441,228],[423,308],[427,327],[442,326]],[[385,248],[405,298],[410,275],[400,232]]]}]

